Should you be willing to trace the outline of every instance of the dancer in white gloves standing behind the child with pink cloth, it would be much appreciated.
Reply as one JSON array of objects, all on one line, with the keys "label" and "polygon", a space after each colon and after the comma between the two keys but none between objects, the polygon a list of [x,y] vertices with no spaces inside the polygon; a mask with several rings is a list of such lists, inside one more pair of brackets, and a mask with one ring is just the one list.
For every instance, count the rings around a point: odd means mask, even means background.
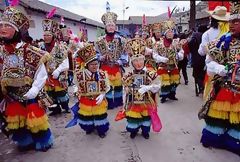
[{"label": "dancer in white gloves standing behind the child with pink cloth", "polygon": [[180,83],[180,74],[177,68],[178,60],[183,59],[183,50],[180,52],[178,39],[173,39],[173,28],[175,23],[172,20],[163,22],[162,31],[165,31],[164,38],[155,44],[153,58],[158,64],[158,75],[161,78],[161,103],[166,102],[167,98],[176,98],[176,89]]}]

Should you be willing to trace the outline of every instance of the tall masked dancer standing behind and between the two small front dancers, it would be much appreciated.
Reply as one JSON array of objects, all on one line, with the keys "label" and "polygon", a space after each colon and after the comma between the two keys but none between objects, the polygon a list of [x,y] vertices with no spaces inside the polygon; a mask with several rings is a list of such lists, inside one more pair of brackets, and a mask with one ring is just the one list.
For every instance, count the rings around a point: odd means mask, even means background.
[{"label": "tall masked dancer standing behind and between the two small front dancers", "polygon": [[122,65],[128,62],[128,56],[123,51],[125,40],[116,34],[117,15],[107,12],[102,16],[102,21],[106,26],[106,35],[100,37],[96,44],[101,69],[108,73],[111,86],[106,95],[108,109],[113,109],[123,104],[121,79],[124,69]]}]

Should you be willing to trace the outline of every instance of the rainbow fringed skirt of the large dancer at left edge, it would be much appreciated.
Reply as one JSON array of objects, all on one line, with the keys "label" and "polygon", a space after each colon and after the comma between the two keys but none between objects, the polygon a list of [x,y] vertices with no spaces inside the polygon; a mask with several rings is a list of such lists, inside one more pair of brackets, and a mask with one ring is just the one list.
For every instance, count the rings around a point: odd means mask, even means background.
[{"label": "rainbow fringed skirt of the large dancer at left edge", "polygon": [[34,145],[37,150],[44,150],[53,144],[48,117],[37,100],[28,100],[24,104],[10,102],[5,115],[7,128],[18,146]]}]

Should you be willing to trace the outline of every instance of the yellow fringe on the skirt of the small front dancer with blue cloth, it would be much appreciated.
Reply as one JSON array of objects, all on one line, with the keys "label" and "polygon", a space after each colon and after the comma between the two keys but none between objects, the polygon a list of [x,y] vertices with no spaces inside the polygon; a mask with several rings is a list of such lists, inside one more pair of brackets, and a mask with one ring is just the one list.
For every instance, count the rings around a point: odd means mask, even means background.
[{"label": "yellow fringe on the skirt of the small front dancer with blue cloth", "polygon": [[80,103],[79,114],[83,116],[102,115],[107,112],[107,101],[102,101],[101,104],[96,106],[86,106]]}]

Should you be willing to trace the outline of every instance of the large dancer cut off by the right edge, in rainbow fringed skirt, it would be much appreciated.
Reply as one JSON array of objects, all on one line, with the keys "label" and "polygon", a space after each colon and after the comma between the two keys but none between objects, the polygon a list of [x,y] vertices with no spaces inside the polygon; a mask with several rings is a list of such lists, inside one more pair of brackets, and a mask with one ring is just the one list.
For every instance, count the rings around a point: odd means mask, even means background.
[{"label": "large dancer cut off by the right edge, in rainbow fringed skirt", "polygon": [[240,155],[240,2],[230,2],[230,32],[207,46],[213,88],[199,113],[206,127],[201,143]]}]

